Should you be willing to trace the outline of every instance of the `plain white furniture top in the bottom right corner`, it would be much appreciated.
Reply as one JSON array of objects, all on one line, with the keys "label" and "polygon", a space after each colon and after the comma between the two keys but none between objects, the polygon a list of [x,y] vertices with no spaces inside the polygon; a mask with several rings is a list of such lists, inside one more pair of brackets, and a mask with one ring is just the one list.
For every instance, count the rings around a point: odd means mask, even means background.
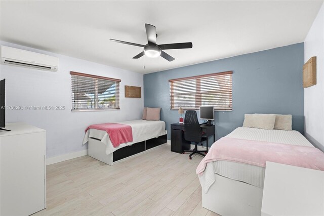
[{"label": "plain white furniture top in the bottom right corner", "polygon": [[267,162],[261,215],[324,215],[324,171]]}]

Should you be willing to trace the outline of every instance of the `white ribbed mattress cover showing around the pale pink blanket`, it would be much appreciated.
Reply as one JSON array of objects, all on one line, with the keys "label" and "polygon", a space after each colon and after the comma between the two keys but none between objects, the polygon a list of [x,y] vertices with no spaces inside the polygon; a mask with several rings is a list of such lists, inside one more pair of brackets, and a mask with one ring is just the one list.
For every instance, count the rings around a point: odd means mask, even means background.
[{"label": "white ribbed mattress cover showing around the pale pink blanket", "polygon": [[[295,130],[264,130],[238,127],[226,137],[313,147],[300,132]],[[263,188],[264,167],[230,161],[214,161],[208,163],[207,166],[209,167],[208,169],[206,167],[206,171],[209,173],[204,173],[204,175],[210,176],[209,178],[214,177],[214,173],[217,173],[237,181]],[[208,184],[205,186],[206,189],[210,187],[210,183],[214,183],[213,179],[205,181],[205,184]]]}]

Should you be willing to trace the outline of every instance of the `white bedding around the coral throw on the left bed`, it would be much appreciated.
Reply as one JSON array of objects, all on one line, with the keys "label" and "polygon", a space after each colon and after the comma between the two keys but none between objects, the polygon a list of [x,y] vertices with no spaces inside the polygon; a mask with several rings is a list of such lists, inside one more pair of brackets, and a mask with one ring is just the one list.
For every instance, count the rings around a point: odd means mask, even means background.
[{"label": "white bedding around the coral throw on the left bed", "polygon": [[130,125],[132,127],[132,142],[122,143],[118,147],[114,148],[110,141],[109,134],[106,131],[89,129],[84,137],[83,144],[88,142],[89,137],[100,139],[103,143],[106,144],[106,154],[109,155],[110,153],[120,148],[131,146],[133,143],[167,134],[166,123],[164,121],[132,120],[115,123]]}]

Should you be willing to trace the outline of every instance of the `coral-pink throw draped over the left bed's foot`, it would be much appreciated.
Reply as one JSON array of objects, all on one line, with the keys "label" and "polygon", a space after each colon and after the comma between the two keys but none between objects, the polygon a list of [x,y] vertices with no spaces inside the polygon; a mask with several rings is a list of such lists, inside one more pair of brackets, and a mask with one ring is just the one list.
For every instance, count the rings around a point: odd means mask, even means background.
[{"label": "coral-pink throw draped over the left bed's foot", "polygon": [[95,124],[87,127],[89,129],[104,130],[109,134],[110,141],[114,148],[118,147],[121,143],[132,142],[133,132],[130,125],[118,124],[118,123],[104,123]]}]

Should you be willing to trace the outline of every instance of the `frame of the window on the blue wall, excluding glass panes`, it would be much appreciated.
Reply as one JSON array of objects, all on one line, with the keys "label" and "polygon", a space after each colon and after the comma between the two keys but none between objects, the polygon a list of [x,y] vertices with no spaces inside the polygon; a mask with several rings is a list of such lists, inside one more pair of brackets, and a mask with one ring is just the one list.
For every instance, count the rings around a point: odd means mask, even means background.
[{"label": "frame of the window on the blue wall, excluding glass panes", "polygon": [[[179,107],[175,106],[176,104],[176,99],[175,97],[177,96],[177,93],[175,92],[175,84],[176,82],[179,81],[190,81],[190,80],[194,80],[195,84],[194,84],[194,92],[192,93],[194,95],[194,100],[188,100],[189,102],[193,102],[194,103],[194,107],[184,107],[182,106],[183,109],[185,110],[199,110],[199,106],[203,106],[202,103],[204,102],[201,98],[203,98],[202,95],[205,94],[211,94],[211,92],[215,91],[215,90],[210,90],[210,91],[201,91],[201,80],[204,78],[213,78],[216,76],[224,76],[224,75],[230,75],[230,90],[228,91],[230,97],[229,97],[229,104],[230,106],[227,108],[222,107],[222,109],[219,109],[216,104],[211,104],[215,106],[215,111],[232,111],[233,110],[233,77],[232,77],[233,71],[229,70],[229,71],[224,71],[224,72],[220,72],[220,73],[213,73],[213,74],[206,74],[206,75],[199,75],[199,76],[193,76],[193,77],[185,77],[185,78],[177,78],[177,79],[171,79],[169,80],[169,88],[170,88],[170,110],[179,110]],[[190,84],[188,84],[190,85]],[[206,87],[206,84],[203,85],[203,87]],[[178,93],[178,95],[180,95],[181,93]],[[183,95],[190,95],[190,93],[183,93]],[[225,98],[225,97],[224,97]]]}]

